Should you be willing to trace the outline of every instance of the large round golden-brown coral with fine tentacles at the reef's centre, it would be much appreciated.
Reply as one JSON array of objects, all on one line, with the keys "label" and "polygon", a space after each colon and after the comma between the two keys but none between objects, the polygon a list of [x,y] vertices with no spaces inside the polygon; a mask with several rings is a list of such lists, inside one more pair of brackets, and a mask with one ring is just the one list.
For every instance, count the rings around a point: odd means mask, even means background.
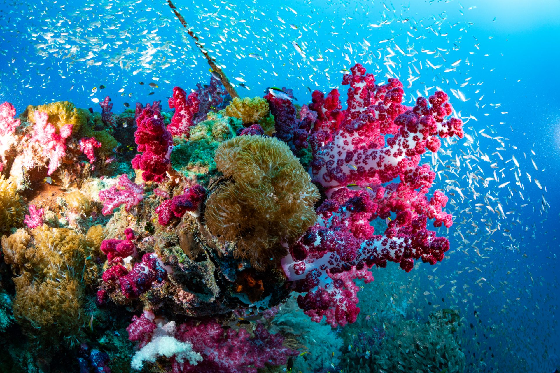
[{"label": "large round golden-brown coral with fine tentacles at the reef's centre", "polygon": [[319,191],[288,145],[276,138],[224,141],[214,161],[228,181],[208,197],[208,229],[235,242],[237,256],[264,270],[315,223]]}]

